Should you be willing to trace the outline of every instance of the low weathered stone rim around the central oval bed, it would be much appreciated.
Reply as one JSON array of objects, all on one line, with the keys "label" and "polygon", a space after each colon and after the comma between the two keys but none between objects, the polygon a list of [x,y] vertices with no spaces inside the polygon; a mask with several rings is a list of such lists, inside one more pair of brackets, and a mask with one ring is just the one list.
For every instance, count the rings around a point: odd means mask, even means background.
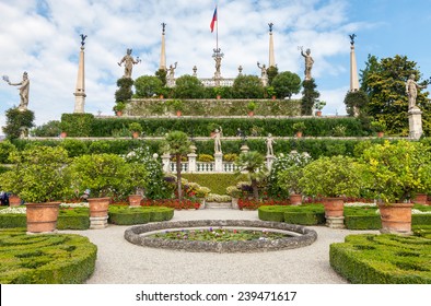
[{"label": "low weathered stone rim around the central oval bed", "polygon": [[[231,235],[226,240],[215,239],[212,235],[218,235],[219,229],[232,229],[237,234],[248,229],[251,232],[265,232],[259,238],[243,240],[244,236],[238,235],[238,239]],[[174,231],[208,231],[213,232],[207,236],[208,239],[190,240],[184,239],[184,235],[179,234],[177,239],[171,237],[156,237],[155,233],[166,233]],[[284,234],[279,238],[266,237],[268,232]],[[220,234],[220,232],[219,232]],[[167,248],[184,251],[212,251],[212,252],[253,252],[300,248],[313,244],[317,239],[317,233],[313,229],[301,225],[292,225],[279,222],[264,222],[249,220],[197,220],[197,221],[178,221],[178,222],[161,222],[144,225],[137,225],[125,232],[125,238],[136,245]]]}]

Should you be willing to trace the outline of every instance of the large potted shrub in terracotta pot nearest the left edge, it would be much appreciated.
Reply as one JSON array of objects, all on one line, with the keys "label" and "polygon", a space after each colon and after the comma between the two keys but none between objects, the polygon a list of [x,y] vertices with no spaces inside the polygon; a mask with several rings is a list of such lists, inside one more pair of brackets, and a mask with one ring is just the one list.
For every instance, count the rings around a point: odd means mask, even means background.
[{"label": "large potted shrub in terracotta pot nearest the left edge", "polygon": [[13,169],[1,176],[2,187],[26,203],[28,233],[56,231],[61,200],[72,193],[68,153],[61,146],[32,146],[10,157]]}]

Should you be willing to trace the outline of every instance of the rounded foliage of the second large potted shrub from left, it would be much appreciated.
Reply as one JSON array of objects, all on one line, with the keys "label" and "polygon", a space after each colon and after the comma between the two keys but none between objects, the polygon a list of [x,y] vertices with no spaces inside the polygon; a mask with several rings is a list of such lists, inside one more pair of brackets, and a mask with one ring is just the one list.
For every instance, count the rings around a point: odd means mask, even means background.
[{"label": "rounded foliage of the second large potted shrub from left", "polygon": [[77,157],[70,169],[74,189],[80,193],[90,189],[92,198],[119,193],[128,176],[126,162],[118,155],[106,153]]}]

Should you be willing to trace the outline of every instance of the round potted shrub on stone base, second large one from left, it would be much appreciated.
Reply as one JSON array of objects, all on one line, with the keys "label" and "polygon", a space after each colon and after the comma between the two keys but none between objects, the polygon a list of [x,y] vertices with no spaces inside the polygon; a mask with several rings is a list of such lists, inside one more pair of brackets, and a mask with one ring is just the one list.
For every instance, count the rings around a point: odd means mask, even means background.
[{"label": "round potted shrub on stone base, second large one from left", "polygon": [[106,153],[82,155],[72,162],[70,169],[74,189],[90,189],[90,227],[106,227],[110,197],[123,190],[128,178],[125,160]]}]

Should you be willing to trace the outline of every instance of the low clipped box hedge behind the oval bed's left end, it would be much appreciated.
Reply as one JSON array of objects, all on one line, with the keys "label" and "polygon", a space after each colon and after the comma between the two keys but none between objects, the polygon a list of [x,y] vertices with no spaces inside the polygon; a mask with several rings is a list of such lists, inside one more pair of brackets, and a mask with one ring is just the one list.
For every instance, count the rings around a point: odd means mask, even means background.
[{"label": "low clipped box hedge behind the oval bed's left end", "polygon": [[163,207],[109,205],[108,222],[117,225],[144,224],[168,221],[174,216],[174,209]]}]

